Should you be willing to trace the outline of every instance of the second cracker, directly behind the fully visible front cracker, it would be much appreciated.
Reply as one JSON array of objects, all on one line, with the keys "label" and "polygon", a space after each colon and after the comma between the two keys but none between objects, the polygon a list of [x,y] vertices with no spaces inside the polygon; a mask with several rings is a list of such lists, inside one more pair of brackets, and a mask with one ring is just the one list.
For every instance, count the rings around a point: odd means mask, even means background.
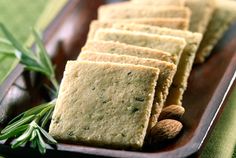
[{"label": "second cracker, directly behind the fully visible front cracker", "polygon": [[158,109],[162,109],[164,105],[164,101],[166,100],[166,97],[169,92],[169,87],[172,84],[173,77],[176,72],[176,66],[174,64],[160,60],[137,58],[127,55],[114,55],[114,54],[92,53],[92,52],[81,53],[78,60],[134,64],[134,65],[143,65],[160,69],[160,75],[157,81],[155,99],[152,107],[148,129],[151,129],[153,126],[156,125],[159,117]]}]

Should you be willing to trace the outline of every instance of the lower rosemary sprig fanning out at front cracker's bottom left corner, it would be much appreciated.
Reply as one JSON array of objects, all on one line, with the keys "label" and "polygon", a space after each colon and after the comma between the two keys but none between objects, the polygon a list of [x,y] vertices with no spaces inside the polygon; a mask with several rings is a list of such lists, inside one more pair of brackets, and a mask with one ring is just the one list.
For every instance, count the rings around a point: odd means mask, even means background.
[{"label": "lower rosemary sprig fanning out at front cracker's bottom left corner", "polygon": [[44,129],[52,116],[56,100],[49,103],[38,105],[15,117],[1,131],[0,140],[15,138],[12,148],[20,147],[28,141],[32,142],[32,147],[38,147],[39,151],[46,152],[46,143],[56,144],[54,140]]}]

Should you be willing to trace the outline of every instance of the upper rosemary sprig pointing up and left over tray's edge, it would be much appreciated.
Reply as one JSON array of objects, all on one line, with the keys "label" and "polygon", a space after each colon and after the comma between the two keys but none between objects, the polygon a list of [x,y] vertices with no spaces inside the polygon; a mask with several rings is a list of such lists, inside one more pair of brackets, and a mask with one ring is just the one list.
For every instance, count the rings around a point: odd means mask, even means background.
[{"label": "upper rosemary sprig pointing up and left over tray's edge", "polygon": [[59,85],[55,78],[54,68],[48,53],[43,46],[39,33],[35,29],[33,30],[35,44],[37,48],[39,48],[38,51],[34,53],[32,50],[25,48],[20,42],[18,42],[16,38],[8,31],[8,29],[1,23],[0,28],[8,40],[2,39],[0,42],[14,48],[7,49],[6,51],[0,51],[5,54],[14,54],[20,60],[20,63],[24,65],[25,69],[40,72],[45,75],[53,84],[55,92],[57,92]]}]

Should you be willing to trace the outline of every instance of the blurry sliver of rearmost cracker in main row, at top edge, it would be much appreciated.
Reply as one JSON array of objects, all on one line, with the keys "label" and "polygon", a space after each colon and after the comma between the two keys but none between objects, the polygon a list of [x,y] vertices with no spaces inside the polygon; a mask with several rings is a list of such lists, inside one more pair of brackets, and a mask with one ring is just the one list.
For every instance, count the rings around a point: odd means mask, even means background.
[{"label": "blurry sliver of rearmost cracker in main row, at top edge", "polygon": [[157,6],[184,6],[185,0],[132,0],[131,2],[136,4],[147,4]]}]

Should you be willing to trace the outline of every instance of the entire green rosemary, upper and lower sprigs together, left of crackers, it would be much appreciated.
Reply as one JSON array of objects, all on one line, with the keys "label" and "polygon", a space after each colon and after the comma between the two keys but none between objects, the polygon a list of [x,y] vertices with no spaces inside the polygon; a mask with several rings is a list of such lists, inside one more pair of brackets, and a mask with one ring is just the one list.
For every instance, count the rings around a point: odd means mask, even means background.
[{"label": "entire green rosemary, upper and lower sprigs together, left of crackers", "polygon": [[[33,30],[35,44],[38,48],[35,53],[22,46],[7,28],[0,23],[0,29],[6,36],[7,40],[0,39],[0,43],[7,45],[9,49],[1,50],[1,53],[16,56],[20,63],[29,71],[39,72],[45,75],[54,87],[55,96],[59,89],[59,84],[55,78],[53,65],[48,57],[48,53],[43,46],[39,33]],[[44,103],[31,108],[14,119],[1,131],[0,140],[13,138],[12,148],[20,147],[31,142],[33,148],[38,147],[40,153],[46,152],[46,144],[56,144],[45,130],[45,126],[51,119],[56,100]]]}]

